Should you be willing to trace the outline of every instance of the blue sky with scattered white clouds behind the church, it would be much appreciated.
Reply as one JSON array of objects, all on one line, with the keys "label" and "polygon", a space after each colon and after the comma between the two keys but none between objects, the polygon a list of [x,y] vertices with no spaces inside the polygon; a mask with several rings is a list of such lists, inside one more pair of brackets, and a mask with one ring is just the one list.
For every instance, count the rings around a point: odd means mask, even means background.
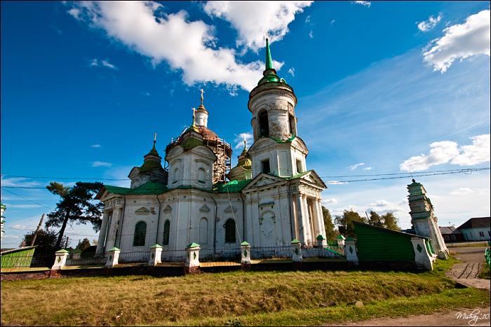
[{"label": "blue sky with scattered white clouds behind the church", "polygon": [[[489,8],[487,1],[2,1],[1,185],[53,180],[12,175],[126,179],[154,132],[163,155],[189,125],[200,88],[208,127],[239,144],[252,132],[248,91],[261,77],[266,33],[278,74],[299,99],[307,168],[325,181],[489,167]],[[489,171],[418,180],[442,225],[490,215]],[[324,204],[333,214],[394,211],[409,227],[408,183],[330,183]],[[42,189],[6,190],[2,247],[17,245],[58,200]],[[69,228],[75,243],[83,235],[96,238],[90,226]]]}]

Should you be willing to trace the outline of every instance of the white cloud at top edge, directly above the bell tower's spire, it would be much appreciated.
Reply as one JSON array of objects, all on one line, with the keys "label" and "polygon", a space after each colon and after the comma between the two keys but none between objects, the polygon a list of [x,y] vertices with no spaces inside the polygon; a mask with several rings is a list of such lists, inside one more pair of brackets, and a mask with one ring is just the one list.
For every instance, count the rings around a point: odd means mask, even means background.
[{"label": "white cloud at top edge, directly above the bell tower's spire", "polygon": [[[264,36],[270,43],[283,39],[288,25],[314,1],[208,1],[208,15],[227,20],[238,32],[237,46],[254,51],[264,47]],[[309,20],[309,17],[307,17]]]}]

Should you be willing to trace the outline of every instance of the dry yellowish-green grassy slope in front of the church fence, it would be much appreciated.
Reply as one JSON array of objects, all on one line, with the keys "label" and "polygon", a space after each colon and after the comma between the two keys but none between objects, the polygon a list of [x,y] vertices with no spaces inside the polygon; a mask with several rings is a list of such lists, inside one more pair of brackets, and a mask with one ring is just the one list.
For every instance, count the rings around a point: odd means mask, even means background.
[{"label": "dry yellowish-green grassy slope in front of the church fence", "polygon": [[[1,282],[1,323],[36,325],[320,324],[475,307],[443,272],[227,272],[185,277],[84,277]],[[410,298],[414,297],[414,298]],[[334,300],[336,307],[319,307]],[[361,300],[363,308],[347,307]],[[425,311],[426,310],[426,311]]]}]

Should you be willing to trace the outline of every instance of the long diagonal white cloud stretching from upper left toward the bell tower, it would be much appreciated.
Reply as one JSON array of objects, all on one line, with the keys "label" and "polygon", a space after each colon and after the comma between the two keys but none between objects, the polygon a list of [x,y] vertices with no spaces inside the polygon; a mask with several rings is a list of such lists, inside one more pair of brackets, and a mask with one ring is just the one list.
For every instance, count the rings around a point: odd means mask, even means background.
[{"label": "long diagonal white cloud stretching from upper left toward the bell tower", "polygon": [[[185,11],[167,15],[152,1],[81,1],[71,5],[79,9],[79,20],[104,29],[109,37],[149,57],[154,65],[166,61],[172,69],[182,70],[187,85],[212,82],[252,90],[262,76],[260,60],[241,63],[234,49],[216,48],[214,27],[201,20],[190,21]],[[254,7],[269,13],[269,7],[276,5],[266,6]],[[249,21],[248,25],[254,26]],[[281,63],[274,64],[281,68]]]}]

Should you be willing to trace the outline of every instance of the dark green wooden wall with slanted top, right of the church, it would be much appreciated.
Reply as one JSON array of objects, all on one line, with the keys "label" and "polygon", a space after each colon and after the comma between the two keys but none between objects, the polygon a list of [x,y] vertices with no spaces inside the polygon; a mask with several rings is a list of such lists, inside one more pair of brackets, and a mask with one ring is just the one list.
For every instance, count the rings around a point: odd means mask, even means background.
[{"label": "dark green wooden wall with slanted top, right of the church", "polygon": [[354,221],[356,249],[360,262],[414,262],[411,235]]}]

